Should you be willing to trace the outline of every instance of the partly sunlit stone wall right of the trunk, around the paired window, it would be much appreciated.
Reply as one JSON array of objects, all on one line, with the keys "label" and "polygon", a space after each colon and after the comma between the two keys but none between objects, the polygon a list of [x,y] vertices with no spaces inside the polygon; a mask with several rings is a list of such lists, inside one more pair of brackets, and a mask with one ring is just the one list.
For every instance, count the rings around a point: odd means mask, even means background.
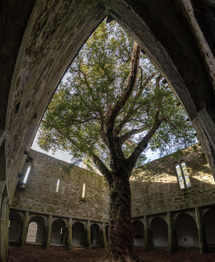
[{"label": "partly sunlit stone wall right of the trunk, around the paired window", "polygon": [[[175,163],[184,160],[191,187],[179,189]],[[169,155],[151,161],[151,181],[131,180],[131,216],[203,206],[215,202],[215,184],[201,147],[177,161]]]}]

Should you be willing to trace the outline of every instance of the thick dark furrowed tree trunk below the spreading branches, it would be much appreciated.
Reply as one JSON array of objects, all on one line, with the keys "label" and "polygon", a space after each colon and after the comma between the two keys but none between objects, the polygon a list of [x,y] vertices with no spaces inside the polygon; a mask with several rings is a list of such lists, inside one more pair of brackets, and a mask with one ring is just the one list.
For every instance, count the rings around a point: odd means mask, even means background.
[{"label": "thick dark furrowed tree trunk below the spreading branches", "polygon": [[129,174],[112,174],[109,183],[110,211],[108,253],[100,261],[143,262],[133,249]]}]

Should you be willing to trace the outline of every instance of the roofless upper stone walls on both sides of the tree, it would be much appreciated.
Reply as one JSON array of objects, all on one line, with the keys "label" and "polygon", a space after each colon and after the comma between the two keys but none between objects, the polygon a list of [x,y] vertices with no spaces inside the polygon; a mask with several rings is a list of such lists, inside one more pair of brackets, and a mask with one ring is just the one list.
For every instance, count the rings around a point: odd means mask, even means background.
[{"label": "roofless upper stone walls on both sides of the tree", "polygon": [[[68,163],[32,149],[29,156],[33,160],[26,161],[23,168],[25,174],[31,166],[29,178],[25,189],[17,188],[12,208],[108,222],[109,193],[102,176],[76,166],[70,173],[65,172],[61,165],[68,166]],[[179,188],[175,169],[175,163],[181,160],[186,164],[191,184],[184,189]],[[149,170],[151,181],[130,181],[133,218],[215,202],[213,176],[201,147],[177,161],[171,155],[151,161]],[[84,198],[83,183],[86,184]]]}]

